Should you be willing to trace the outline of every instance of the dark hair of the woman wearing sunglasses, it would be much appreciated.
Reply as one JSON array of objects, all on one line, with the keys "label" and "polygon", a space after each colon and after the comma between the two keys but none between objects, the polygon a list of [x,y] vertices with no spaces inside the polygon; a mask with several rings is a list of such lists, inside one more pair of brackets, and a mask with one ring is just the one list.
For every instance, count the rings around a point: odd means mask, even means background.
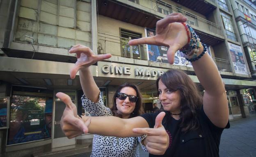
[{"label": "dark hair of the woman wearing sunglasses", "polygon": [[121,89],[124,88],[124,87],[131,87],[131,88],[133,88],[136,91],[136,94],[137,94],[137,97],[138,97],[138,100],[136,102],[134,111],[133,111],[133,113],[130,114],[129,118],[137,117],[138,115],[143,114],[144,113],[144,109],[142,107],[142,95],[140,94],[139,88],[135,84],[125,83],[125,84],[122,84],[121,86],[119,86],[119,88],[117,89],[116,93],[114,94],[113,106],[112,106],[112,108],[110,108],[112,113],[113,113],[113,115],[117,116],[117,117],[122,117],[122,115],[117,111],[116,97],[117,97],[117,93],[119,93],[121,91]]}]

